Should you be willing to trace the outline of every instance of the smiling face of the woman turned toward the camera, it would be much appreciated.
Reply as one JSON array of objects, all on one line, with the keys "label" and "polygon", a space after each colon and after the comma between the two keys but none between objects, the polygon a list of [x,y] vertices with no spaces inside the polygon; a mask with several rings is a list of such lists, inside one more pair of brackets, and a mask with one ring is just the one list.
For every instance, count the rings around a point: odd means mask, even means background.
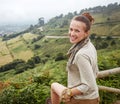
[{"label": "smiling face of the woman turned toward the camera", "polygon": [[88,31],[85,32],[86,25],[83,22],[72,20],[69,28],[70,42],[75,44],[88,36]]}]

